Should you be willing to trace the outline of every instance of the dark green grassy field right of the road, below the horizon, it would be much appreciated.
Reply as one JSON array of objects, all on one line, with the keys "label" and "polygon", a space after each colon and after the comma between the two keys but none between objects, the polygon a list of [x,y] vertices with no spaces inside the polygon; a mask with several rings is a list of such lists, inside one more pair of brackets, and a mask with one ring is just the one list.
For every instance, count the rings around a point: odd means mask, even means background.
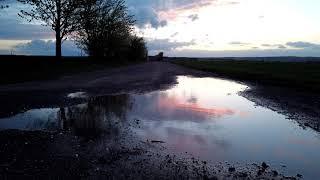
[{"label": "dark green grassy field right of the road, below the horizon", "polygon": [[320,90],[320,62],[196,61],[174,60],[175,64],[217,73],[237,80]]}]

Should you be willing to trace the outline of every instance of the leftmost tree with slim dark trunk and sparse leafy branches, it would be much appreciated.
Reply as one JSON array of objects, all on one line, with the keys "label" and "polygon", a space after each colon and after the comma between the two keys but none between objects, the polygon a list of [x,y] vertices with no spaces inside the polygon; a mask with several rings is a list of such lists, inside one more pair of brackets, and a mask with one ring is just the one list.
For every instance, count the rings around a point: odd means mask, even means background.
[{"label": "leftmost tree with slim dark trunk and sparse leafy branches", "polygon": [[56,56],[61,57],[61,44],[76,30],[75,14],[77,11],[77,0],[18,0],[30,5],[28,11],[21,10],[20,17],[29,22],[38,20],[44,22],[56,34]]}]

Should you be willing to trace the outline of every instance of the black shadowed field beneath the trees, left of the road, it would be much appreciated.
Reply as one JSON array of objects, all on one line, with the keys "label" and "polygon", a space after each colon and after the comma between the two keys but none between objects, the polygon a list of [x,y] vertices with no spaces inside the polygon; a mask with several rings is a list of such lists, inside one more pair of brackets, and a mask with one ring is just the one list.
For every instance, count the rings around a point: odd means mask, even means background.
[{"label": "black shadowed field beneath the trees, left of the road", "polygon": [[0,84],[57,79],[64,75],[126,66],[137,62],[88,57],[0,56]]}]

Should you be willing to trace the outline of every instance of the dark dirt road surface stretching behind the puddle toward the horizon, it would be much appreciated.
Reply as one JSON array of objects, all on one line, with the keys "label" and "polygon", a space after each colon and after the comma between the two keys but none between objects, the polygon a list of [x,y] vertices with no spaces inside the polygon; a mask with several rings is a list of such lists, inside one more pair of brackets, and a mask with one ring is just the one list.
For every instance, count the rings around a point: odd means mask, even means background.
[{"label": "dark dirt road surface stretching behind the puddle toward the horizon", "polygon": [[192,70],[166,62],[149,62],[122,68],[105,69],[65,76],[57,80],[34,81],[5,85],[0,92],[26,91],[91,91],[115,93],[158,89],[175,82],[177,75],[205,76],[209,73]]}]

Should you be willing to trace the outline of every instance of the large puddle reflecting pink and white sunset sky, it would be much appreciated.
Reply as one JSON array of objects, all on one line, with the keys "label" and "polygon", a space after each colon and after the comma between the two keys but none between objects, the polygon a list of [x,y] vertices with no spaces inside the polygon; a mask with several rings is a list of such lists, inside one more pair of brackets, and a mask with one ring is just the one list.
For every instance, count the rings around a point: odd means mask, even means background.
[{"label": "large puddle reflecting pink and white sunset sky", "polygon": [[215,78],[178,77],[178,84],[164,91],[28,110],[0,119],[0,129],[71,129],[79,136],[98,136],[130,122],[142,140],[163,141],[172,152],[213,163],[264,161],[284,174],[320,177],[319,133],[239,96],[246,88]]}]

